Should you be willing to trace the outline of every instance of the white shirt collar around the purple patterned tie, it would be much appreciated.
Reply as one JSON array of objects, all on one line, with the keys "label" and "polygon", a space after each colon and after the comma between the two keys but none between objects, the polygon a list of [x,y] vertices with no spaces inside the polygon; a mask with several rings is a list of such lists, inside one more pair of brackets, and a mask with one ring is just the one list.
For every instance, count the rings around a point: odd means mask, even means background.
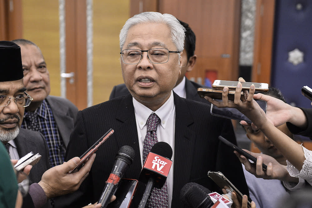
[{"label": "white shirt collar around the purple patterned tie", "polygon": [[132,102],[133,102],[135,117],[137,119],[140,129],[143,129],[143,127],[146,125],[149,115],[151,115],[153,112],[156,113],[156,115],[160,118],[160,125],[164,129],[166,128],[169,116],[171,115],[171,112],[174,110],[173,91],[171,91],[171,94],[168,100],[156,111],[152,111],[148,107],[144,106],[142,103],[139,103],[134,98],[132,98]]}]

